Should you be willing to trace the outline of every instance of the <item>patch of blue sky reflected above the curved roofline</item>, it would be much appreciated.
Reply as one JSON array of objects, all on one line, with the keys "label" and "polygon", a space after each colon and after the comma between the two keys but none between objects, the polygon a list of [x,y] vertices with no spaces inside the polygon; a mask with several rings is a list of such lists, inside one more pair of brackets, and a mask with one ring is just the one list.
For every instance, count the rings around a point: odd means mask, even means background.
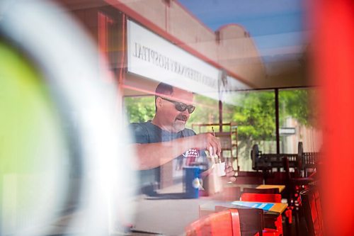
[{"label": "patch of blue sky reflected above the curved roofline", "polygon": [[303,0],[178,0],[212,30],[238,23],[266,57],[304,43]]}]

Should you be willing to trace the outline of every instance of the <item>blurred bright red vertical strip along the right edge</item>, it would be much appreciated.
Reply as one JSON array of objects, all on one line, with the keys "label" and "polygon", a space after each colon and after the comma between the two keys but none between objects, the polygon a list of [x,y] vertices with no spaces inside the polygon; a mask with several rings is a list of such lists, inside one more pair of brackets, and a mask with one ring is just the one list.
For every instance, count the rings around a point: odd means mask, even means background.
[{"label": "blurred bright red vertical strip along the right edge", "polygon": [[316,1],[314,69],[321,85],[326,235],[354,235],[354,1]]}]

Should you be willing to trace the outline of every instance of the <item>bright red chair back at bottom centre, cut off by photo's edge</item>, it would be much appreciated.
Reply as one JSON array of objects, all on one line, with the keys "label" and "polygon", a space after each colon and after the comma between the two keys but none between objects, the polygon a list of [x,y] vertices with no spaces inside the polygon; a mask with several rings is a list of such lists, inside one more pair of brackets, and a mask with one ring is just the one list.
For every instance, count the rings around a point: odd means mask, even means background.
[{"label": "bright red chair back at bottom centre, cut off by photo's edge", "polygon": [[239,211],[223,210],[207,215],[186,227],[187,236],[241,236]]}]

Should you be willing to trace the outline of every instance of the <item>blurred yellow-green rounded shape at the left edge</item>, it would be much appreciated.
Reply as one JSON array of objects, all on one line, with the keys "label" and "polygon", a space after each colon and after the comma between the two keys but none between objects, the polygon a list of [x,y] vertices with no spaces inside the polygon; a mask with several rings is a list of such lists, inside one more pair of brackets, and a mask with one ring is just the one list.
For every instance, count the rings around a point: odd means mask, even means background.
[{"label": "blurred yellow-green rounded shape at the left edge", "polygon": [[[64,198],[68,149],[57,108],[38,69],[0,38],[1,233],[50,219]],[[18,233],[18,232],[17,232]]]}]

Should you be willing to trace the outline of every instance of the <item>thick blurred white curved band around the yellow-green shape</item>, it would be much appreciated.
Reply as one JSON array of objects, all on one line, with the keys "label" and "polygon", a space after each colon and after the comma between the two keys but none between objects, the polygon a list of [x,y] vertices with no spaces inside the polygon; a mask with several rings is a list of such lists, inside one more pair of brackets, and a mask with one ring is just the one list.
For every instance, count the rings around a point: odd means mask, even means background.
[{"label": "thick blurred white curved band around the yellow-green shape", "polygon": [[[98,67],[97,46],[50,1],[1,1],[0,16],[3,33],[40,65],[59,107],[79,118],[83,163],[79,197],[85,201],[77,214],[81,217],[70,223],[68,231],[108,235],[122,217],[129,222],[134,211],[129,200],[135,191],[135,157],[122,127],[120,101],[113,99],[119,98],[115,86],[103,84],[113,80],[102,78],[109,75]],[[35,214],[42,220],[39,225],[55,218],[50,211]],[[17,235],[45,235],[45,230],[18,229]]]}]

